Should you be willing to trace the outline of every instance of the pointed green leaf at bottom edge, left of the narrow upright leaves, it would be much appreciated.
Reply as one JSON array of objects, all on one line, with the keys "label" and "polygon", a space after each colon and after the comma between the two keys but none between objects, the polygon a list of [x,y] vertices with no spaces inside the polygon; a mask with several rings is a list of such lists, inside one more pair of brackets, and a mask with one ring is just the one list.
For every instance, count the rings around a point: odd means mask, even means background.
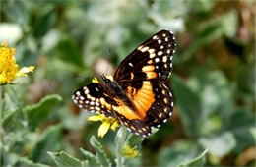
[{"label": "pointed green leaf at bottom edge, left of the narrow upright leaves", "polygon": [[64,151],[55,153],[55,152],[47,152],[52,159],[54,160],[57,166],[82,166],[81,161],[77,158],[72,157]]}]

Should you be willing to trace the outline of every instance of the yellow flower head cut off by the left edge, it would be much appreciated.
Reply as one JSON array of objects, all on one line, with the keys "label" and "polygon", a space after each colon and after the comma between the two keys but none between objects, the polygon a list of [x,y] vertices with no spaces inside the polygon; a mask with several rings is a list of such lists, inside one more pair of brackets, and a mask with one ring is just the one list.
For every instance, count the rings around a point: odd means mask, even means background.
[{"label": "yellow flower head cut off by the left edge", "polygon": [[19,76],[27,76],[27,73],[33,71],[34,67],[24,67],[20,70],[16,63],[15,48],[8,48],[6,42],[0,46],[0,84],[11,83]]}]

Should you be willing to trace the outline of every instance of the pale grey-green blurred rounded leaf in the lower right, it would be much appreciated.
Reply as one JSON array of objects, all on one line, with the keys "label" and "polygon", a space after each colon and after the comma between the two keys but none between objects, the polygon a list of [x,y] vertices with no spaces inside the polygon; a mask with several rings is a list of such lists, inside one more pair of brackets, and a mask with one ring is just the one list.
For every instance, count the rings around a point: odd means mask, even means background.
[{"label": "pale grey-green blurred rounded leaf in the lower right", "polygon": [[224,155],[229,153],[236,145],[233,135],[228,132],[211,139],[199,139],[199,142],[204,145],[204,147],[209,149],[211,154],[219,157],[224,157]]}]

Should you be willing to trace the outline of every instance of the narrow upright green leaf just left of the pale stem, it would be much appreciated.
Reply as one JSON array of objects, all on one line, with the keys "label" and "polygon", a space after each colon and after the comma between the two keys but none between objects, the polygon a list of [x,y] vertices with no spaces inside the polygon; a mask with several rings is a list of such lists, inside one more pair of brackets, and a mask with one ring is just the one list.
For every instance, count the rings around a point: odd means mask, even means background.
[{"label": "narrow upright green leaf just left of the pale stem", "polygon": [[102,166],[111,166],[110,160],[107,158],[105,152],[103,151],[103,146],[98,140],[96,140],[95,136],[91,137],[90,143],[96,149],[97,162],[99,162]]}]

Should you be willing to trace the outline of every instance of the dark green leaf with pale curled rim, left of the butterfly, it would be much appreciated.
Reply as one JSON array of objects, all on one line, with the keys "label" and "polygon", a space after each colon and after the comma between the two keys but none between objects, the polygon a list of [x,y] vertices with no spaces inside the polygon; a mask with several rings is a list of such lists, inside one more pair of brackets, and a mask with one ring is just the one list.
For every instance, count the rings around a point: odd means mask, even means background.
[{"label": "dark green leaf with pale curled rim, left of the butterfly", "polygon": [[37,104],[25,107],[29,127],[33,130],[41,122],[48,118],[48,115],[58,102],[62,100],[61,96],[57,94],[47,95],[41,99]]}]

